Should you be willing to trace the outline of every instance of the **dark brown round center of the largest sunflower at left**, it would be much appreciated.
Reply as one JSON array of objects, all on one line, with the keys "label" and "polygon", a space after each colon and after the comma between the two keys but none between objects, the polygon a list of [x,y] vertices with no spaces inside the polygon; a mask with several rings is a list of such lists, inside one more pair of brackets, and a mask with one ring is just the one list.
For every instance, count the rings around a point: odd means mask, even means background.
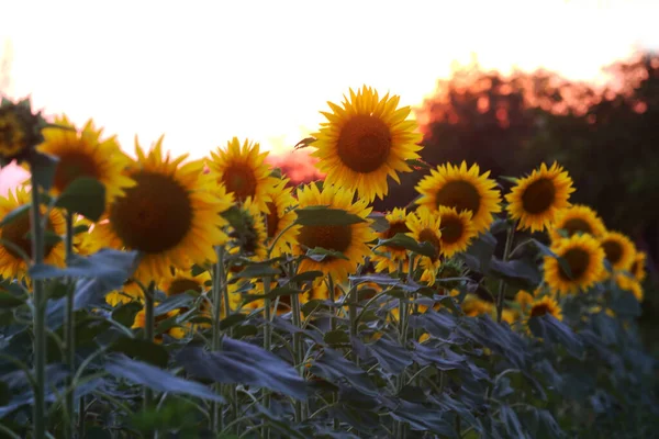
[{"label": "dark brown round center of the largest sunflower at left", "polygon": [[126,247],[146,254],[176,247],[192,226],[188,191],[160,173],[143,171],[132,177],[137,184],[110,209],[114,232]]}]

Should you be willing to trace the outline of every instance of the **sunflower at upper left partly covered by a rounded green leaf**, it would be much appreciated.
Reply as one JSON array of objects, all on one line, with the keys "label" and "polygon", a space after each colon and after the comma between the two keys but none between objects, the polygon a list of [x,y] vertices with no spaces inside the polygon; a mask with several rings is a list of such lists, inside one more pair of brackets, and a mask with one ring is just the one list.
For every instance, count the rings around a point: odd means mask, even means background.
[{"label": "sunflower at upper left partly covered by a rounded green leaf", "polygon": [[62,127],[43,130],[44,143],[37,150],[57,157],[53,193],[63,193],[79,177],[91,177],[105,187],[105,202],[124,195],[124,190],[136,183],[125,175],[131,159],[122,153],[114,136],[101,139],[102,130],[96,130],[89,120],[81,132],[63,115],[55,120]]}]

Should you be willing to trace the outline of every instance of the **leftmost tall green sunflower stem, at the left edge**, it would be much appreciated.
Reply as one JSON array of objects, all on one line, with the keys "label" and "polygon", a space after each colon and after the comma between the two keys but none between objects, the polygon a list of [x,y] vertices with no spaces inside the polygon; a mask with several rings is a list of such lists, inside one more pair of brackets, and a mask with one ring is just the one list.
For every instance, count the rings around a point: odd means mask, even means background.
[{"label": "leftmost tall green sunflower stem, at the left edge", "polygon": [[[44,262],[44,230],[41,227],[40,188],[34,170],[32,172],[32,261],[34,264]],[[34,439],[44,439],[46,436],[46,296],[43,280],[33,281],[34,301]]]}]

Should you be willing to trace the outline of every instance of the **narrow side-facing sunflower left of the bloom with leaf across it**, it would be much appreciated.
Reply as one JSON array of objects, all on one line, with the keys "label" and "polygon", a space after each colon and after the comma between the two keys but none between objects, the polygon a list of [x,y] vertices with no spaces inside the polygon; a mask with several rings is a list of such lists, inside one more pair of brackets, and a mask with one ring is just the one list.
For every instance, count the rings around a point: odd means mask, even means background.
[{"label": "narrow side-facing sunflower left of the bloom with leaf across it", "polygon": [[288,182],[289,179],[279,180],[272,187],[272,201],[267,203],[269,212],[266,216],[268,247],[272,245],[275,238],[281,235],[272,247],[271,256],[273,258],[292,252],[293,246],[298,243],[298,234],[300,233],[300,226],[292,225],[298,214],[293,209],[295,199],[291,193],[291,189],[286,187]]}]

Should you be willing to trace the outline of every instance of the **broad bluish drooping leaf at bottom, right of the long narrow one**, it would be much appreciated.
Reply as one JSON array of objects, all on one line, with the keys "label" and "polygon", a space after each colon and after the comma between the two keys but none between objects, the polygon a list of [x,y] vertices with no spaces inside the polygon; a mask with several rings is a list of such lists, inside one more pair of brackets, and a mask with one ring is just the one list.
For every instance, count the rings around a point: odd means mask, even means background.
[{"label": "broad bluish drooping leaf at bottom, right of the long narrow one", "polygon": [[176,361],[196,376],[220,383],[266,387],[297,399],[306,398],[306,385],[292,365],[272,352],[245,341],[224,337],[221,351],[186,348],[176,357]]}]

